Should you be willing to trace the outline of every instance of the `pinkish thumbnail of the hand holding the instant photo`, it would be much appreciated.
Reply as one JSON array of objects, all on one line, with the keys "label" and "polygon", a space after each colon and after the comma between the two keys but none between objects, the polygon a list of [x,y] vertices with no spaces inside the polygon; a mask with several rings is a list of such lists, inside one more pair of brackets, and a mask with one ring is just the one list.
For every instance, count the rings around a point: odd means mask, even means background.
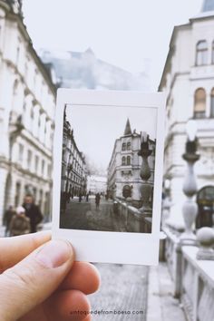
[{"label": "pinkish thumbnail of the hand holding the instant photo", "polygon": [[58,268],[73,256],[72,246],[63,240],[52,240],[37,253],[36,259],[45,268]]}]

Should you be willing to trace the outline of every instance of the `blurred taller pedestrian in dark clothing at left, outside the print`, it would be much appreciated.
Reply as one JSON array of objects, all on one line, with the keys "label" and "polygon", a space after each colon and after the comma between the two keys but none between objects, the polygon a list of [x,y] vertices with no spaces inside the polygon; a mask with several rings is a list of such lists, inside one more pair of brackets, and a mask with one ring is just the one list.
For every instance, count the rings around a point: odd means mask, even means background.
[{"label": "blurred taller pedestrian in dark clothing at left, outside the print", "polygon": [[34,198],[31,194],[27,194],[24,197],[23,207],[25,209],[25,215],[30,219],[31,233],[36,232],[37,225],[42,222],[43,214],[37,205],[34,204]]}]

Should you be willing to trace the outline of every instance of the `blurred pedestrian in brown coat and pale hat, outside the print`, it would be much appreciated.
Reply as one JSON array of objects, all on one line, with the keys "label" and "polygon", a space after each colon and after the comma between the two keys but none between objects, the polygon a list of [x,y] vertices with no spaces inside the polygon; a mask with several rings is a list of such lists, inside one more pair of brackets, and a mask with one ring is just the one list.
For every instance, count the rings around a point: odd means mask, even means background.
[{"label": "blurred pedestrian in brown coat and pale hat, outside the print", "polygon": [[25,209],[19,206],[10,222],[10,236],[28,234],[31,231],[30,219],[25,216]]}]

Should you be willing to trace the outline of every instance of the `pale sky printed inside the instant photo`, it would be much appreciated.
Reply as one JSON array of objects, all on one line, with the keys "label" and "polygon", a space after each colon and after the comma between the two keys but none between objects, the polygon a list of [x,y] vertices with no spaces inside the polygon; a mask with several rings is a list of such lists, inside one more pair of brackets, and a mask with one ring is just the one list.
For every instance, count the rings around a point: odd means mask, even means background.
[{"label": "pale sky printed inside the instant photo", "polygon": [[156,138],[156,108],[68,104],[66,117],[78,149],[102,170],[107,170],[114,142],[123,135],[128,118],[131,131],[146,131],[151,139]]}]

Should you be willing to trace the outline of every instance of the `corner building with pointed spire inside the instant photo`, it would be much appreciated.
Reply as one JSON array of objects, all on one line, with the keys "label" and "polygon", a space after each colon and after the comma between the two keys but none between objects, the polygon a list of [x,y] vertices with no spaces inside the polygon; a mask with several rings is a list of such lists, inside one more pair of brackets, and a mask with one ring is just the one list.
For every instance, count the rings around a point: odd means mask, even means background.
[{"label": "corner building with pointed spire inside the instant photo", "polygon": [[[141,205],[141,136],[146,135],[149,148],[152,151],[148,158],[151,177],[148,182],[153,185],[155,167],[155,141],[152,141],[145,132],[131,131],[130,121],[127,120],[124,134],[114,143],[112,157],[108,167],[107,189],[108,196],[115,199],[131,198],[132,204]],[[151,195],[152,198],[152,195]]]}]

